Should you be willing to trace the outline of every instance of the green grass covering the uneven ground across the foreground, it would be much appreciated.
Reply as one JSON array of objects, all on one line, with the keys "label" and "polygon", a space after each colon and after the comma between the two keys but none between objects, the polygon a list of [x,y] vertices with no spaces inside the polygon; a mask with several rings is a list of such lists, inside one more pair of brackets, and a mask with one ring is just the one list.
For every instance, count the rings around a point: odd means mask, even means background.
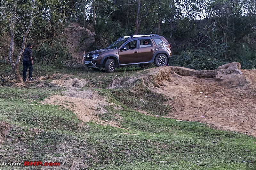
[{"label": "green grass covering the uneven ground across the foreground", "polygon": [[[68,109],[39,103],[66,88],[50,84],[44,88],[36,85],[19,88],[5,84],[0,87],[0,123],[7,122],[11,129],[0,143],[2,161],[61,163],[60,167],[47,169],[245,170],[246,162],[256,159],[256,139],[253,137],[136,111],[166,115],[171,110],[164,104],[168,99],[143,86],[131,85],[139,88],[133,92],[129,88],[105,89],[114,74],[131,76],[141,70],[105,74],[84,68],[80,73],[79,69],[64,69],[61,73],[88,80],[89,85],[85,88],[96,90],[115,103],[120,109],[106,106],[107,112],[99,117],[115,120],[122,128],[85,123]],[[89,77],[92,74],[95,76]],[[145,93],[157,98],[148,98]],[[140,101],[142,97],[146,102]],[[170,163],[156,163],[159,161]],[[24,166],[12,168],[24,169]],[[41,166],[26,168],[43,169]]]}]

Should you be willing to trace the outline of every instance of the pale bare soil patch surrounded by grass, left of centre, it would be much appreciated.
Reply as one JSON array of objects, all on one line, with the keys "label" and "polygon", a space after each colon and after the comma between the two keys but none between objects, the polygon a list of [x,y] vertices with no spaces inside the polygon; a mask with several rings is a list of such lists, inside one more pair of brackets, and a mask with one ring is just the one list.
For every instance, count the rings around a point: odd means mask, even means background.
[{"label": "pale bare soil patch surrounded by grass, left of centre", "polygon": [[[55,81],[55,83],[59,81]],[[118,123],[113,121],[101,120],[99,117],[106,113],[105,106],[113,105],[107,103],[99,94],[92,90],[77,91],[77,88],[70,88],[62,92],[65,96],[54,95],[46,99],[43,104],[60,105],[76,113],[77,118],[84,121],[94,121],[102,125],[118,127]]]}]

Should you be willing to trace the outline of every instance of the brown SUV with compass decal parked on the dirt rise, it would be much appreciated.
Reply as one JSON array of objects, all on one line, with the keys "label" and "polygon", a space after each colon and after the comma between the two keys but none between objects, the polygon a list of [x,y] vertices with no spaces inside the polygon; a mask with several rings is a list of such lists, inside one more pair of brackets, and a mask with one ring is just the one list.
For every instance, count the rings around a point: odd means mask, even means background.
[{"label": "brown SUV with compass decal parked on the dirt rise", "polygon": [[105,49],[84,54],[84,64],[92,69],[105,68],[113,73],[117,68],[139,65],[148,68],[151,63],[157,67],[168,65],[172,56],[168,41],[159,35],[131,35],[120,37]]}]

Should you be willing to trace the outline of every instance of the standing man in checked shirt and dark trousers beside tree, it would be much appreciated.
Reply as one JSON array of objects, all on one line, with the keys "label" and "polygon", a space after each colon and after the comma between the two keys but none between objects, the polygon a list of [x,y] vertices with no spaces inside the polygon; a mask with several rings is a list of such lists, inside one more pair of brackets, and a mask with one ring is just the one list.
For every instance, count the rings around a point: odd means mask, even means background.
[{"label": "standing man in checked shirt and dark trousers beside tree", "polygon": [[32,72],[33,72],[33,60],[32,60],[32,44],[28,43],[27,48],[25,48],[23,52],[23,82],[26,81],[26,74],[27,70],[29,70],[28,74],[28,81],[34,81],[35,79],[32,79]]}]

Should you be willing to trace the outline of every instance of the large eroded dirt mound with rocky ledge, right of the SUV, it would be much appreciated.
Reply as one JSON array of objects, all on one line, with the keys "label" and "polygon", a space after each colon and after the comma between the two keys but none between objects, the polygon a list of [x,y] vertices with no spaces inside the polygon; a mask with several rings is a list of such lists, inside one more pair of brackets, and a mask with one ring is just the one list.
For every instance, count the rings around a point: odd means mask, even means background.
[{"label": "large eroded dirt mound with rocky ledge, right of the SUV", "polygon": [[255,75],[256,70],[241,70],[240,63],[202,71],[165,66],[149,69],[146,75],[116,79],[109,88],[141,79],[149,89],[172,99],[167,102],[173,107],[167,117],[256,137]]}]

